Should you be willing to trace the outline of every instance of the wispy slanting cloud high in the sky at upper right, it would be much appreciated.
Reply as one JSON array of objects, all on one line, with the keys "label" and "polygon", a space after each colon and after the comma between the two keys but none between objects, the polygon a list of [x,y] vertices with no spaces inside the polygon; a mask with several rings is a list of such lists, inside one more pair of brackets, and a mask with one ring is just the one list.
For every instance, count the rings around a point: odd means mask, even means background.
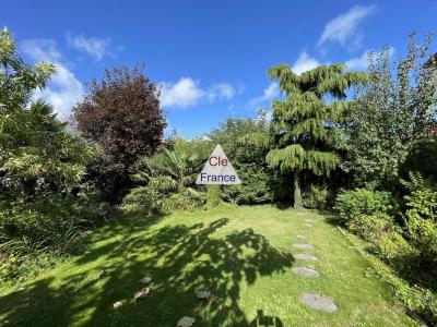
[{"label": "wispy slanting cloud high in the sky at upper right", "polygon": [[355,50],[361,47],[363,32],[358,31],[358,24],[376,10],[375,5],[355,5],[349,12],[328,22],[320,36],[318,46],[327,41],[339,43],[343,47]]}]

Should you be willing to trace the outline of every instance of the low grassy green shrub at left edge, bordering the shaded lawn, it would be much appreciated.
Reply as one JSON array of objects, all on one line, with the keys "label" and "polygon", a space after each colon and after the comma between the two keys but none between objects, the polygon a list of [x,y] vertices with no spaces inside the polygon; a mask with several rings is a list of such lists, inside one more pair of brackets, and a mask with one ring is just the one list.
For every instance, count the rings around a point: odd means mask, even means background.
[{"label": "low grassy green shrub at left edge, bordering the shaded lawn", "polygon": [[87,229],[111,213],[93,195],[39,194],[0,199],[0,282],[36,275],[69,254],[82,253]]}]

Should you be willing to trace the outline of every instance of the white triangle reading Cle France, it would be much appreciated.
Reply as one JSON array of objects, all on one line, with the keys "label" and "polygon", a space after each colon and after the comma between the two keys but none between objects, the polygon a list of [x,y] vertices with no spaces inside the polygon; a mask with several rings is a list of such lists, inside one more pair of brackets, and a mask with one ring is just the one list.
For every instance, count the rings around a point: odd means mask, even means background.
[{"label": "white triangle reading Cle France", "polygon": [[214,148],[203,170],[199,173],[196,184],[241,184],[220,144]]}]

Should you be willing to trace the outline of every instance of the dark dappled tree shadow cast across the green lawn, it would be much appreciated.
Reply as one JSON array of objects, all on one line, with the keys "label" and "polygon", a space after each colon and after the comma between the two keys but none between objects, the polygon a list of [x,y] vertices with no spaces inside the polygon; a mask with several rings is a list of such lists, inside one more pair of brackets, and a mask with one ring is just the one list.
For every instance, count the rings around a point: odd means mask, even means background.
[{"label": "dark dappled tree shadow cast across the green lawn", "polygon": [[[76,265],[86,265],[106,256],[99,267],[107,270],[104,279],[98,280],[93,269],[66,277],[57,289],[51,279],[39,280],[0,299],[0,323],[67,326],[74,316],[75,325],[86,326],[176,326],[180,317],[192,316],[194,326],[283,326],[279,317],[264,316],[262,308],[248,319],[239,299],[241,284],[285,271],[293,264],[292,254],[273,247],[250,228],[214,237],[227,222],[221,218],[209,225],[146,226],[145,231],[143,222],[116,229],[125,235],[122,241],[76,259]],[[144,276],[153,278],[151,293],[133,301]],[[194,296],[203,289],[214,294],[211,301]],[[114,311],[113,303],[120,300],[126,304]]]}]

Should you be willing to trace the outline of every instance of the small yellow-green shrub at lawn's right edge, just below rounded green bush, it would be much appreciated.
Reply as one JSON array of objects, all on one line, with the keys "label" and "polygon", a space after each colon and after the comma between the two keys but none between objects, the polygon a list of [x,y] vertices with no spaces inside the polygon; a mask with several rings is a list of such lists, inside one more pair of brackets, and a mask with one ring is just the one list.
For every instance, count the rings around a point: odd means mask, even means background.
[{"label": "small yellow-green shrub at lawn's right edge, just below rounded green bush", "polygon": [[392,222],[376,216],[358,215],[346,222],[347,229],[374,244],[385,234],[395,230]]}]

